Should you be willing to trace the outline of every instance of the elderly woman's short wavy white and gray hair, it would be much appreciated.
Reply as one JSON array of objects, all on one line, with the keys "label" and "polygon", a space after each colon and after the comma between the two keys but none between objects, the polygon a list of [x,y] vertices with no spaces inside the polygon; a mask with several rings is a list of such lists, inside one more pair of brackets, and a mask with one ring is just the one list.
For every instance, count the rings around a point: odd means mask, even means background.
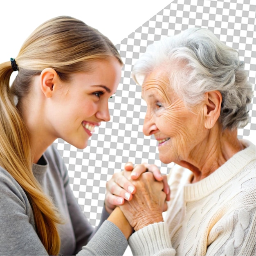
[{"label": "elderly woman's short wavy white and gray hair", "polygon": [[[181,63],[183,68],[180,68]],[[238,52],[222,43],[210,30],[186,29],[147,47],[135,63],[132,78],[142,84],[145,76],[162,67],[170,85],[185,106],[192,110],[205,92],[222,94],[220,123],[223,130],[244,127],[249,121],[247,105],[253,97],[244,63]],[[175,72],[172,70],[175,68]]]}]

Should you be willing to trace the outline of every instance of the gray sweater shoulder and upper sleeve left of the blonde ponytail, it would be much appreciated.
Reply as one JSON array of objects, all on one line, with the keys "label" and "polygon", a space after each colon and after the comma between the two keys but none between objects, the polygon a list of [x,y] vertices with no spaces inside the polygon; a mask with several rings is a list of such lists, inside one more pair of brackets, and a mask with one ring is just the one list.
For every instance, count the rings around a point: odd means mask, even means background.
[{"label": "gray sweater shoulder and upper sleeve left of the blonde ponytail", "polygon": [[20,185],[0,168],[0,255],[47,255]]}]

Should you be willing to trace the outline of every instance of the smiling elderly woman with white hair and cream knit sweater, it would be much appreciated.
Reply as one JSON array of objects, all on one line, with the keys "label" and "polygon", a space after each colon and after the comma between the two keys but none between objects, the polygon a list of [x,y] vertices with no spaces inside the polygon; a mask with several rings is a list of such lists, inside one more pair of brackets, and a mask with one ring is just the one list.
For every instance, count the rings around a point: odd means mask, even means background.
[{"label": "smiling elderly woman with white hair and cream knit sweater", "polygon": [[133,254],[255,255],[255,146],[237,138],[253,93],[236,50],[187,29],[150,45],[133,78],[147,103],[144,134],[175,163],[164,222],[144,174],[120,206]]}]

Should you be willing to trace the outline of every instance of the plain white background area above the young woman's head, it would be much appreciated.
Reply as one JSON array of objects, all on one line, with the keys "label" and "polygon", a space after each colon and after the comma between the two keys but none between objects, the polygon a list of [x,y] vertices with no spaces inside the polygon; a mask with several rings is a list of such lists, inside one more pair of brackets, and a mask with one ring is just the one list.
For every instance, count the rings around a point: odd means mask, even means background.
[{"label": "plain white background area above the young woman's head", "polygon": [[0,62],[15,58],[41,23],[67,15],[83,20],[114,45],[173,0],[5,0],[0,1]]}]

